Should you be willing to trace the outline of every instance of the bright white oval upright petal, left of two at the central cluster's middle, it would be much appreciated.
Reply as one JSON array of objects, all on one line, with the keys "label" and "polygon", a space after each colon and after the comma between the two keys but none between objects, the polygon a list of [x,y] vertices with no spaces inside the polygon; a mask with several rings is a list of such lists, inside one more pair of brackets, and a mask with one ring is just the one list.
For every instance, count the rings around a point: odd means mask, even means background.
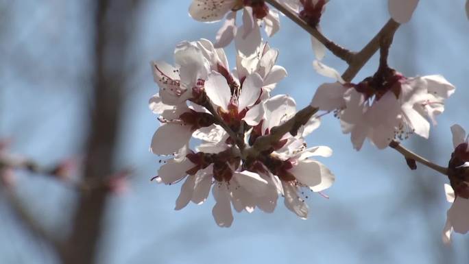
[{"label": "bright white oval upright petal, left of two at the central cluster's middle", "polygon": [[223,108],[223,110],[228,112],[231,91],[225,77],[216,71],[212,71],[212,73],[208,75],[204,87],[205,93],[207,94],[208,98],[211,99],[213,104]]}]

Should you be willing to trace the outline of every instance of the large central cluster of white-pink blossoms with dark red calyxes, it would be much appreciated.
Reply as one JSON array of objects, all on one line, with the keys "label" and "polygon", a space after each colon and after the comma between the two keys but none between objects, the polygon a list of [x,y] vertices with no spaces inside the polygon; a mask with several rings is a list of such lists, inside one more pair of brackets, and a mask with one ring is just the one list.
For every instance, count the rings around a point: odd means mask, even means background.
[{"label": "large central cluster of white-pink blossoms with dark red calyxes", "polygon": [[[312,156],[330,156],[328,147],[306,147],[304,136],[320,125],[312,117],[296,135],[253,152],[259,138],[296,114],[295,101],[287,95],[271,97],[287,71],[276,65],[278,51],[260,43],[252,56],[238,52],[236,69],[230,71],[223,49],[205,39],[182,42],[175,50],[175,66],[152,62],[159,93],[149,100],[162,123],[151,150],[169,156],[156,180],[174,184],[184,180],[176,210],[190,201],[202,204],[212,190],[213,217],[219,226],[230,226],[232,208],[272,212],[278,195],[285,206],[306,218],[308,206],[302,188],[323,191],[334,182],[333,174]],[[239,51],[239,50],[238,50]],[[199,145],[191,148],[191,139]],[[257,153],[257,154],[252,154]]]}]

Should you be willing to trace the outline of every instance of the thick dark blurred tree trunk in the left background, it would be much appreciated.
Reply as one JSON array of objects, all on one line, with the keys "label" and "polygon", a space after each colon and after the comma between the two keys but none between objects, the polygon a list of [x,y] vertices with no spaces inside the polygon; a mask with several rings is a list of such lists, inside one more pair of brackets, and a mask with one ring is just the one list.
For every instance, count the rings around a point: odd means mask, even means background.
[{"label": "thick dark blurred tree trunk in the left background", "polygon": [[[90,105],[90,134],[86,148],[84,178],[105,182],[112,177],[115,146],[121,122],[123,90],[128,75],[125,54],[129,25],[136,1],[91,1],[95,11],[95,77]],[[67,264],[95,263],[102,233],[109,189],[93,188],[79,198],[71,236],[62,254]]]}]

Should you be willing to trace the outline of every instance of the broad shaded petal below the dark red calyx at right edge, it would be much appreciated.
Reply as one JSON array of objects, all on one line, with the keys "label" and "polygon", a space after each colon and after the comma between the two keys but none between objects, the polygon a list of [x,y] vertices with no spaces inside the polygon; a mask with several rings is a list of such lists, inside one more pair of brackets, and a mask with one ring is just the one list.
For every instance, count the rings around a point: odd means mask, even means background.
[{"label": "broad shaded petal below the dark red calyx at right edge", "polygon": [[453,225],[453,230],[459,234],[469,231],[469,200],[457,197],[448,210],[448,221]]}]

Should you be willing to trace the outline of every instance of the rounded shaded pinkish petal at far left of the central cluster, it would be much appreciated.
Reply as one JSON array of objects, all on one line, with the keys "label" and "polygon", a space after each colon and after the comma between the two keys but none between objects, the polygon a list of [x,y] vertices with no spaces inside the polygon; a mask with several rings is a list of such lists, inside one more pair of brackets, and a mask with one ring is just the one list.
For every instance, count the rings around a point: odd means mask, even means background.
[{"label": "rounded shaded pinkish petal at far left of the central cluster", "polygon": [[156,155],[170,155],[189,143],[191,128],[188,125],[167,123],[161,125],[153,135],[150,150]]}]

